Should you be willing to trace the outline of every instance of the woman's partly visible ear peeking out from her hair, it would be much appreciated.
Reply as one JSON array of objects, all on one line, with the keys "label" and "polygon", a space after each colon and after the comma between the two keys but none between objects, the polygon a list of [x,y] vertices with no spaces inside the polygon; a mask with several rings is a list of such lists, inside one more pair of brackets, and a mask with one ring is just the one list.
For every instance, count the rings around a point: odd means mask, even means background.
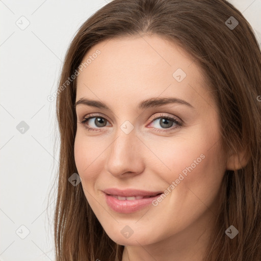
[{"label": "woman's partly visible ear peeking out from her hair", "polygon": [[227,158],[226,169],[227,170],[239,170],[246,167],[249,161],[248,153],[245,150],[239,153],[230,153]]}]

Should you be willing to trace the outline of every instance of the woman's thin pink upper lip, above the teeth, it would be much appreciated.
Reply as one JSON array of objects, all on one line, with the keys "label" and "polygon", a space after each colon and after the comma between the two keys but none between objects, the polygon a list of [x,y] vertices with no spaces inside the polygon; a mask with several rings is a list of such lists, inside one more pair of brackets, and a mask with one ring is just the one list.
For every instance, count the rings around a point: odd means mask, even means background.
[{"label": "woman's thin pink upper lip, above the teeth", "polygon": [[125,189],[119,190],[115,188],[103,190],[107,195],[115,195],[120,197],[136,197],[136,196],[155,196],[162,194],[161,191],[145,191],[145,190],[135,190],[135,189]]}]

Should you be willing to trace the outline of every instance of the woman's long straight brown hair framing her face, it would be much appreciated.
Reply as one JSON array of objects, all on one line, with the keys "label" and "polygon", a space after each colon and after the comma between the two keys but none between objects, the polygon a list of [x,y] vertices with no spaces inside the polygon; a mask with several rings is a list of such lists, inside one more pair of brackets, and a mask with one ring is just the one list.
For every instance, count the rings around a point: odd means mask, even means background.
[{"label": "woman's long straight brown hair framing her face", "polygon": [[[231,24],[236,27],[231,28]],[[123,246],[103,230],[82,184],[74,187],[68,182],[77,173],[73,148],[76,82],[66,81],[94,44],[145,34],[171,40],[194,58],[219,108],[224,151],[239,154],[244,149],[249,158],[245,167],[227,170],[224,175],[221,206],[204,260],[260,261],[261,54],[250,24],[224,0],[114,0],[76,33],[65,57],[56,104],[60,133],[56,260],[122,258]],[[239,230],[234,239],[225,234],[230,225]]]}]

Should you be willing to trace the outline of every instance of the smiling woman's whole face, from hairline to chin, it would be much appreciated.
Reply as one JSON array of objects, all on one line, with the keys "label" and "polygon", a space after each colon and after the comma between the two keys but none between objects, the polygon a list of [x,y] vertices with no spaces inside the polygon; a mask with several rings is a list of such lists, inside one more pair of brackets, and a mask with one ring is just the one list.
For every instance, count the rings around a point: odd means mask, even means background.
[{"label": "smiling woman's whole face, from hairline to chin", "polygon": [[103,41],[87,59],[75,163],[108,236],[139,246],[210,228],[226,166],[218,108],[196,62],[157,36]]}]

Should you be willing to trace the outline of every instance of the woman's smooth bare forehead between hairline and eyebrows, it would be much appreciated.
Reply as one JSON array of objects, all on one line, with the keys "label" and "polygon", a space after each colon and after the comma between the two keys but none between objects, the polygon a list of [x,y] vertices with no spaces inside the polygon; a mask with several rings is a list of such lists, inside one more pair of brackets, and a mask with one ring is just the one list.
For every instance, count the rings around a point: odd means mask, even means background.
[{"label": "woman's smooth bare forehead between hairline and eyebrows", "polygon": [[158,36],[99,42],[82,64],[87,60],[77,76],[76,100],[113,98],[126,105],[151,96],[175,95],[193,105],[199,94],[205,95],[202,71],[193,58]]}]

